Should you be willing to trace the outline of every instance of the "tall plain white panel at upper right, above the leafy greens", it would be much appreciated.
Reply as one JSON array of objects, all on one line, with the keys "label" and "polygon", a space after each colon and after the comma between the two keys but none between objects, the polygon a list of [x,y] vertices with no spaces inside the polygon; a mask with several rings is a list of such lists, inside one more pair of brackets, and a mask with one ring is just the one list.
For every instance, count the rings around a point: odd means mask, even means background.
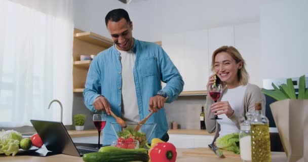
[{"label": "tall plain white panel at upper right, above the leafy greens", "polygon": [[261,8],[263,78],[308,74],[308,1],[275,1]]}]

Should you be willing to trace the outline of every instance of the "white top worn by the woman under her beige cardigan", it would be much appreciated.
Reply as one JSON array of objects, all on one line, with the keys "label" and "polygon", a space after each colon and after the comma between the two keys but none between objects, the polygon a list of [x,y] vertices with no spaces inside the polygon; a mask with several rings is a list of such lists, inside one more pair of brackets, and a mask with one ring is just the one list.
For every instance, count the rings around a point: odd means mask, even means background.
[{"label": "white top worn by the woman under her beige cardigan", "polygon": [[[244,99],[244,93],[246,86],[239,86],[234,89],[228,89],[225,94],[223,94],[220,101],[228,101],[235,113],[239,114],[242,111],[242,104]],[[229,119],[225,114],[218,115],[219,118],[217,122],[220,125],[219,137],[227,134],[237,133],[239,129],[235,123]]]}]

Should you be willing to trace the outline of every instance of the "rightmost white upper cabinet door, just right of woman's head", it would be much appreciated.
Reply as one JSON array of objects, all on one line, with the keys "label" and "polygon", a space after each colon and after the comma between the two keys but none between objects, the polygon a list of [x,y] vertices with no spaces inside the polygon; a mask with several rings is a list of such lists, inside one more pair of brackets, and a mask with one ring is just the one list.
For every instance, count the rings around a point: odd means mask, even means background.
[{"label": "rightmost white upper cabinet door, just right of woman's head", "polygon": [[235,47],[246,61],[249,83],[262,87],[262,54],[260,44],[260,24],[235,25]]}]

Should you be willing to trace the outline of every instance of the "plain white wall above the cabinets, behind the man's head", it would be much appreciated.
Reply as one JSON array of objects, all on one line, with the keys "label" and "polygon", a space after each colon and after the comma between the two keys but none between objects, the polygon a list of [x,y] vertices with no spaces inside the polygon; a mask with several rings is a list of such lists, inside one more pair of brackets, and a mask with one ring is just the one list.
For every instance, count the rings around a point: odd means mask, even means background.
[{"label": "plain white wall above the cabinets, behind the man's head", "polygon": [[123,8],[133,21],[133,35],[142,41],[161,41],[162,35],[259,21],[266,0],[145,0],[126,5],[117,0],[74,0],[76,28],[109,37],[105,15]]}]

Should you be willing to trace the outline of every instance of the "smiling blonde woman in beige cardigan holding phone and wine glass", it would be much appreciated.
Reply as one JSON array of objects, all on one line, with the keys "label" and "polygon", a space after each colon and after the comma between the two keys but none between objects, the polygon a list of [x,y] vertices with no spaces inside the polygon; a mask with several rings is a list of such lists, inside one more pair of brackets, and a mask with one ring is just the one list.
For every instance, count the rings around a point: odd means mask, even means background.
[{"label": "smiling blonde woman in beige cardigan holding phone and wine glass", "polygon": [[[265,96],[258,86],[248,83],[245,67],[245,60],[232,46],[222,46],[212,55],[212,71],[223,87],[216,103],[209,95],[206,100],[206,128],[209,133],[216,132],[215,138],[239,132],[246,112],[254,110],[255,103],[261,102],[265,112]],[[209,77],[207,89],[215,83],[214,75]],[[214,115],[222,119],[211,119]]]}]

